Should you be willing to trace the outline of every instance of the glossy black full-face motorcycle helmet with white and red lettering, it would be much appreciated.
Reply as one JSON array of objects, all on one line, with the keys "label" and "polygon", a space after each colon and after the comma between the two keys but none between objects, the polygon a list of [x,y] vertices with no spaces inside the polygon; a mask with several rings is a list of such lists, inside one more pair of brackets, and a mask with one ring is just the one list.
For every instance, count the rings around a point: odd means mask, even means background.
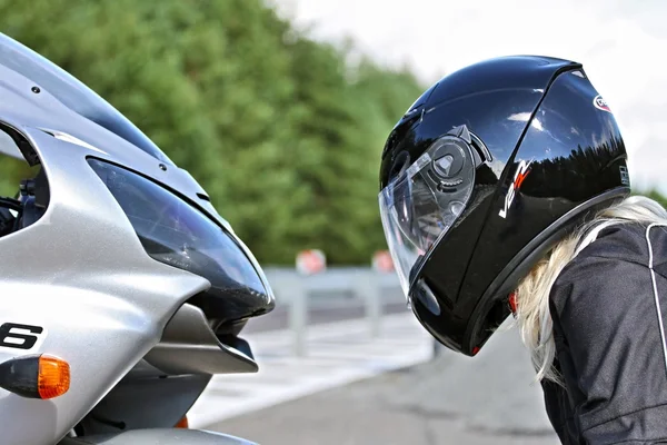
[{"label": "glossy black full-face motorcycle helmet with white and red lettering", "polygon": [[504,57],[430,87],[380,166],[385,236],[419,322],[476,355],[549,248],[629,194],[626,158],[579,63]]}]

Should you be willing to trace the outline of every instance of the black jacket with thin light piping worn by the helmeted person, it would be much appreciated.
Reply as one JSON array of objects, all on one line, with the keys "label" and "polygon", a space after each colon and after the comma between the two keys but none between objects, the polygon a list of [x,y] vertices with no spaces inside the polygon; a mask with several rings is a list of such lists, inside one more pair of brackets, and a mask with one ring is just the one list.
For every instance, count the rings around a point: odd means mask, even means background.
[{"label": "black jacket with thin light piping worn by the helmeted person", "polygon": [[565,388],[542,388],[560,441],[667,443],[667,227],[600,231],[556,280],[550,312]]}]

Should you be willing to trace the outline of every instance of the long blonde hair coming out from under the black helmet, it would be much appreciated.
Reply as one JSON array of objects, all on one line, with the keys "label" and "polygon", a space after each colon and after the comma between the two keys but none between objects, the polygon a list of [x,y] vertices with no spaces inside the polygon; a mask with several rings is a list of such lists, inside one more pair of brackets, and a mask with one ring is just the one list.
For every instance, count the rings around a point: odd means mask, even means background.
[{"label": "long blonde hair coming out from under the black helmet", "polygon": [[530,350],[537,380],[548,379],[563,383],[554,368],[556,345],[549,314],[549,294],[556,278],[565,266],[577,256],[578,251],[590,241],[587,235],[591,230],[627,222],[667,224],[667,210],[655,200],[644,196],[631,196],[614,204],[558,243],[519,283],[516,290],[516,324],[519,327],[521,340]]}]

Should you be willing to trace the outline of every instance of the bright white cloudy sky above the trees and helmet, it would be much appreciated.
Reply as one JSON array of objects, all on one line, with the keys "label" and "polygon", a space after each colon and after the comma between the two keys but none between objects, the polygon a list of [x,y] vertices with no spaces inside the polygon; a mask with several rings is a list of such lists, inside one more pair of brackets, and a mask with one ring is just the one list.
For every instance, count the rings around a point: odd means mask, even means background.
[{"label": "bright white cloudy sky above the trees and helmet", "polygon": [[498,56],[576,60],[614,111],[633,186],[667,194],[665,0],[271,1],[312,38],[351,37],[382,65],[408,65],[425,85]]}]

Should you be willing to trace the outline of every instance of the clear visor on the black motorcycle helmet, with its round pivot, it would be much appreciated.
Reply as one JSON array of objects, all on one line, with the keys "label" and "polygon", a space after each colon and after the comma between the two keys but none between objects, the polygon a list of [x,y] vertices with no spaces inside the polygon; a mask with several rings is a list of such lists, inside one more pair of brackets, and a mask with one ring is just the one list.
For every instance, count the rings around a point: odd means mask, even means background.
[{"label": "clear visor on the black motorcycle helmet, with its round pivot", "polygon": [[385,237],[406,297],[421,259],[452,227],[472,194],[476,158],[462,137],[436,140],[379,194]]}]

